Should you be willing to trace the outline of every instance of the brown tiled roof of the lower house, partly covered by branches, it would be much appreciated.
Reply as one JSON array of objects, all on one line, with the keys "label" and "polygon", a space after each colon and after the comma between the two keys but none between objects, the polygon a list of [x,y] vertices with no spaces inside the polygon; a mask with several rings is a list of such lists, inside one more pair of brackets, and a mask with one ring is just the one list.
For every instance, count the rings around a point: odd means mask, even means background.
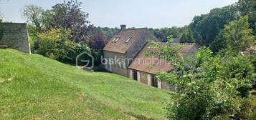
[{"label": "brown tiled roof of the lower house, partly covered by branches", "polygon": [[[166,43],[158,43],[165,45]],[[178,44],[174,44],[176,46]],[[181,44],[183,45],[182,49],[179,50],[179,53],[183,56],[189,54],[189,51],[196,44]],[[135,69],[138,71],[143,71],[150,74],[156,74],[158,71],[171,71],[172,65],[164,59],[158,59],[155,56],[145,56],[145,51],[156,51],[156,49],[149,49],[148,46],[151,46],[151,43],[146,44],[143,47],[142,51],[136,56],[136,59],[128,67],[129,69]]]}]

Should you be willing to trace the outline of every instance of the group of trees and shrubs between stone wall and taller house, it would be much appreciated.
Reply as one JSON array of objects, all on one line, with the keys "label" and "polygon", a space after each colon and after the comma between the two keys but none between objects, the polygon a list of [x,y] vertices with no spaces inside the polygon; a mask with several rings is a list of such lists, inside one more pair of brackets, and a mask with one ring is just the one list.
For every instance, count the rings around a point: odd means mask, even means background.
[{"label": "group of trees and shrubs between stone wall and taller house", "polygon": [[70,64],[82,51],[99,58],[108,38],[90,24],[81,4],[77,0],[63,1],[47,10],[25,6],[22,16],[29,23],[32,52]]}]

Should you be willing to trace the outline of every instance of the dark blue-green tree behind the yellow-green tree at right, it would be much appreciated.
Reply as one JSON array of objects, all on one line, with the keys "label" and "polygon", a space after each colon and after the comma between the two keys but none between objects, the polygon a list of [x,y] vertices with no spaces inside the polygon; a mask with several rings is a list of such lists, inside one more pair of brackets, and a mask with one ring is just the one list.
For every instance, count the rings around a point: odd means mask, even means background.
[{"label": "dark blue-green tree behind the yellow-green tree at right", "polygon": [[238,18],[237,6],[230,5],[223,8],[212,9],[209,14],[202,14],[195,16],[189,28],[194,33],[196,43],[202,46],[209,46],[212,44],[221,29],[229,21]]}]

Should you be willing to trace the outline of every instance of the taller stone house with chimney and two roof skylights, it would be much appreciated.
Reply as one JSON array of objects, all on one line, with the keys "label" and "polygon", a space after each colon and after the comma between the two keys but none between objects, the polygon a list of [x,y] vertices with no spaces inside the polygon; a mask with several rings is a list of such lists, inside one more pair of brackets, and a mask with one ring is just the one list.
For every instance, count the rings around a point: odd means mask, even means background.
[{"label": "taller stone house with chimney and two roof skylights", "polygon": [[158,41],[156,36],[146,28],[125,29],[125,25],[121,25],[121,30],[103,49],[105,69],[128,76],[128,65],[145,46],[148,39]]}]

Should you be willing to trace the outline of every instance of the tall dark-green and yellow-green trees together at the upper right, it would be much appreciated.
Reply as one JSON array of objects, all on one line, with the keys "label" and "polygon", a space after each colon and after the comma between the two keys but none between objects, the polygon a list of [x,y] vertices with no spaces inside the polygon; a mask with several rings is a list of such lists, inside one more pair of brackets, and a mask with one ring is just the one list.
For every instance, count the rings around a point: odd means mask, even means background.
[{"label": "tall dark-green and yellow-green trees together at the upper right", "polygon": [[243,44],[237,48],[239,51],[255,44],[255,3],[253,0],[239,0],[236,4],[212,9],[209,14],[195,16],[189,28],[196,43],[209,46],[214,52],[232,43],[234,46]]}]

